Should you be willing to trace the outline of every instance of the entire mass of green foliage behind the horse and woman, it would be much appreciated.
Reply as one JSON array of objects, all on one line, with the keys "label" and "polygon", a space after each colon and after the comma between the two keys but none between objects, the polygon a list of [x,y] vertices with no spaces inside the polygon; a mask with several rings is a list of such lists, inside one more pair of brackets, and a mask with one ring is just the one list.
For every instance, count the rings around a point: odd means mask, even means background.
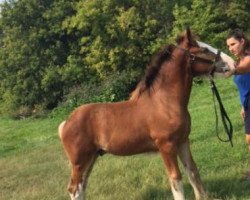
[{"label": "entire mass of green foliage behind the horse and woman", "polygon": [[78,102],[125,99],[151,55],[186,26],[225,50],[230,27],[250,32],[249,9],[247,0],[6,1],[0,113],[53,109],[92,86],[97,93],[86,91]]}]

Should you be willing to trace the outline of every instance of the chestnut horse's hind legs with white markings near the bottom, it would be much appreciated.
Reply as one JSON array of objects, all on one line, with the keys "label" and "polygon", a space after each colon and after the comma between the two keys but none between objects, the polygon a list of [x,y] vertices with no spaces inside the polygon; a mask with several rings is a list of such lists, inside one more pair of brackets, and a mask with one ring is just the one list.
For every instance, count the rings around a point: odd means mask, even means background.
[{"label": "chestnut horse's hind legs with white markings near the bottom", "polygon": [[72,164],[71,179],[68,186],[71,200],[84,200],[88,177],[94,166],[97,154],[85,154],[81,161]]}]

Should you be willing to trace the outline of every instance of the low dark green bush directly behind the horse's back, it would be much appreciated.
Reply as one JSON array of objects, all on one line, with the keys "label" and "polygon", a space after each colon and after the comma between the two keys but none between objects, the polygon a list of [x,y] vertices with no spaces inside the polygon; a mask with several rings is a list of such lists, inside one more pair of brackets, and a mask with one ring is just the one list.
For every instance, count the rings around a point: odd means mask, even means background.
[{"label": "low dark green bush directly behind the horse's back", "polygon": [[126,100],[135,88],[138,77],[138,72],[124,70],[110,74],[99,83],[89,82],[72,87],[54,112],[65,115],[81,104]]}]

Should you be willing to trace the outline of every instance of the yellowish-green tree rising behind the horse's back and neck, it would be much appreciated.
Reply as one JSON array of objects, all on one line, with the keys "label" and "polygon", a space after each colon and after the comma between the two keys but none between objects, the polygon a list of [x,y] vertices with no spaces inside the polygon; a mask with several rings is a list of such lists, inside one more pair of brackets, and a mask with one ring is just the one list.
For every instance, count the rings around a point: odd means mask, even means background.
[{"label": "yellowish-green tree rising behind the horse's back and neck", "polygon": [[65,23],[65,28],[81,35],[84,63],[103,78],[117,70],[145,66],[149,54],[163,43],[157,40],[170,29],[168,5],[166,0],[80,1],[76,15]]}]

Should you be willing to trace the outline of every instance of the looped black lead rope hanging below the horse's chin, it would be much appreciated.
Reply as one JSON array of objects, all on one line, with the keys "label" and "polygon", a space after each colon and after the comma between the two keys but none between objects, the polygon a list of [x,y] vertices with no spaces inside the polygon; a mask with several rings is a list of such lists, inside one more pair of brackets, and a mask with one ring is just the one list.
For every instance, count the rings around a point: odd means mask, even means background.
[{"label": "looped black lead rope hanging below the horse's chin", "polygon": [[[216,124],[216,135],[218,137],[218,139],[222,142],[230,142],[231,146],[233,147],[233,142],[232,142],[232,138],[233,138],[233,126],[232,123],[227,115],[227,112],[222,104],[219,92],[215,86],[215,83],[213,81],[213,78],[211,75],[209,75],[209,82],[211,85],[211,89],[213,92],[213,101],[214,101],[214,110],[215,110],[215,124]],[[224,130],[227,133],[228,136],[228,140],[224,140],[219,136],[219,131],[218,131],[218,114],[217,114],[217,109],[216,109],[216,104],[215,104],[215,97],[217,98],[218,104],[219,104],[219,108],[220,108],[220,113],[221,113],[221,119],[222,119],[222,123],[224,126]]]}]

